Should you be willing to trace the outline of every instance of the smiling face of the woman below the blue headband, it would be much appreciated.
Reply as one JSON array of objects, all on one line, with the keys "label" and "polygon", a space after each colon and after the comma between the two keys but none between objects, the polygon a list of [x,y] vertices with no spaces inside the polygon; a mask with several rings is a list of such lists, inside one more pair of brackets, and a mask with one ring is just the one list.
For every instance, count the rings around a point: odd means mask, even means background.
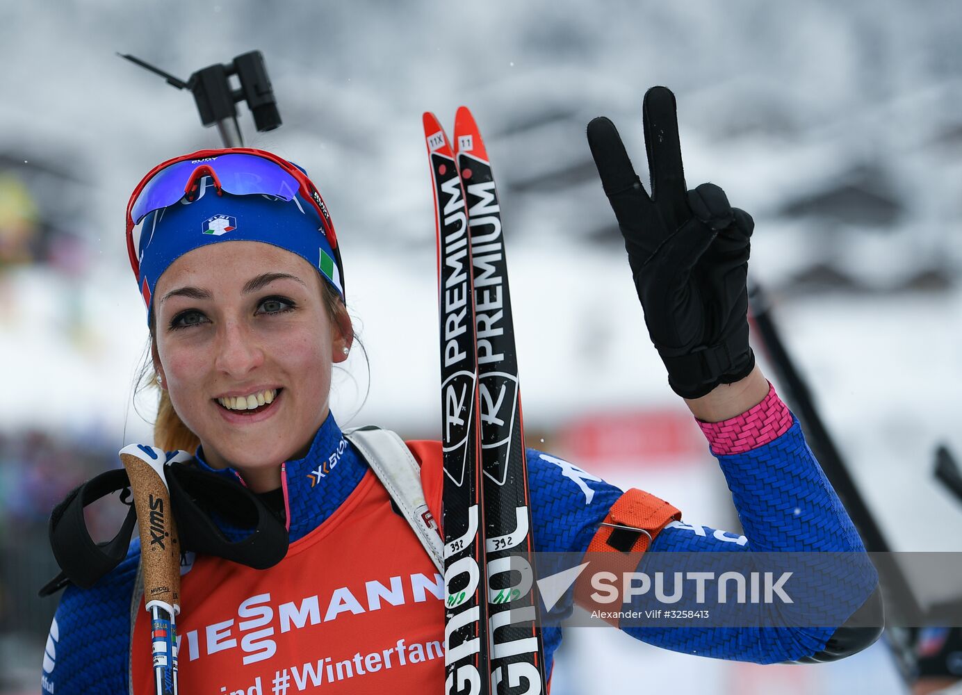
[{"label": "smiling face of the woman below the blue headband", "polygon": [[289,251],[229,241],[181,256],[154,291],[154,363],[174,410],[205,459],[256,492],[307,454],[346,359],[350,320],[328,315],[323,282]]}]

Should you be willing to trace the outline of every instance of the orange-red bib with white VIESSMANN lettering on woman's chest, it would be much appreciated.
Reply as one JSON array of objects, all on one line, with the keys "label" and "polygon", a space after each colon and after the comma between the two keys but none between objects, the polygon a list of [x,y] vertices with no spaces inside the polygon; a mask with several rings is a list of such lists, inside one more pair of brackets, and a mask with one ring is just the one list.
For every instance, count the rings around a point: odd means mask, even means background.
[{"label": "orange-red bib with white VIESSMANN lettering on woman's chest", "polygon": [[[439,442],[408,442],[441,519]],[[370,471],[268,570],[199,557],[182,578],[180,690],[189,695],[440,691],[444,583]],[[133,683],[151,695],[150,621],[133,636]]]}]

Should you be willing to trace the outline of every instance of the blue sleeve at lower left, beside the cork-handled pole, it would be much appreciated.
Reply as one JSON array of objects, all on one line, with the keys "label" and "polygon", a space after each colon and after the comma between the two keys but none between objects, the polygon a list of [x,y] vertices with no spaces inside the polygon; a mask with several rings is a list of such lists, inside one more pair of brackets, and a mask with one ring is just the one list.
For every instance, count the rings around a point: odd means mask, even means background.
[{"label": "blue sleeve at lower left, beside the cork-handled pole", "polygon": [[139,555],[135,537],[113,572],[89,589],[70,584],[63,591],[43,655],[42,692],[127,692],[130,602]]}]

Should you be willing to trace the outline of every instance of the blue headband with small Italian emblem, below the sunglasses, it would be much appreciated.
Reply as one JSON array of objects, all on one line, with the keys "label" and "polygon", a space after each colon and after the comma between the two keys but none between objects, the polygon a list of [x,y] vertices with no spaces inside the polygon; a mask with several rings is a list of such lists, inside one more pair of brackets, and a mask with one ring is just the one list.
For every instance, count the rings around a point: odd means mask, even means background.
[{"label": "blue headband with small Italian emblem, below the sunglasses", "polygon": [[154,288],[173,261],[220,241],[261,241],[297,254],[316,267],[341,298],[341,272],[320,217],[297,196],[290,201],[261,194],[217,195],[211,177],[198,181],[199,196],[146,214],[140,224],[140,292],[153,312]]}]

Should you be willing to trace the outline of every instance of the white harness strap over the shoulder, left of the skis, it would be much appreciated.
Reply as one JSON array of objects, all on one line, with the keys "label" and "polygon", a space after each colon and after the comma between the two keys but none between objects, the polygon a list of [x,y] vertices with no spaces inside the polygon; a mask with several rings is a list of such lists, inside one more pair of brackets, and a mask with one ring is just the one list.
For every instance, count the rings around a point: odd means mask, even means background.
[{"label": "white harness strap over the shoulder, left of the skis", "polygon": [[424,550],[443,574],[441,530],[432,518],[424,499],[420,467],[407,444],[391,430],[382,430],[372,425],[346,430],[344,436],[367,460],[374,475],[388,490],[394,504],[414,529]]}]

